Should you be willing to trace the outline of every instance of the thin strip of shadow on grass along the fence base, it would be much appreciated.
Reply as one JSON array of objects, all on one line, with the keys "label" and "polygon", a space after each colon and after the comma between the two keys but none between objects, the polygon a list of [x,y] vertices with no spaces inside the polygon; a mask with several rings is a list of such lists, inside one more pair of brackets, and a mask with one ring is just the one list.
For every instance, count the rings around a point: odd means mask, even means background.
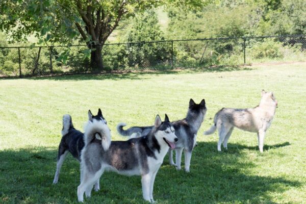
[{"label": "thin strip of shadow on grass along the fence base", "polygon": [[[149,69],[149,70],[131,70],[131,71],[110,71],[96,73],[59,73],[55,75],[27,76],[23,77],[29,80],[55,80],[55,81],[83,81],[83,80],[143,80],[148,77],[144,75],[160,74],[180,74],[180,73],[200,73],[200,72],[225,72],[225,71],[243,71],[253,70],[254,68],[240,66],[216,66],[200,68],[175,68],[175,69]],[[0,79],[18,79],[17,77],[8,77]]]}]

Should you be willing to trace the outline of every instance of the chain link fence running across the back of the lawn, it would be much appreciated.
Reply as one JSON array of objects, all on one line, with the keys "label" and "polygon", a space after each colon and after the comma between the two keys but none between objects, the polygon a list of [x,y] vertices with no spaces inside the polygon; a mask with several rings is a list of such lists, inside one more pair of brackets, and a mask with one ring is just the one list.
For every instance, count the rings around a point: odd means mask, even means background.
[{"label": "chain link fence running across the back of the lawn", "polygon": [[[26,76],[92,71],[86,45],[0,47],[0,75]],[[240,66],[306,61],[306,35],[109,43],[105,70]]]}]

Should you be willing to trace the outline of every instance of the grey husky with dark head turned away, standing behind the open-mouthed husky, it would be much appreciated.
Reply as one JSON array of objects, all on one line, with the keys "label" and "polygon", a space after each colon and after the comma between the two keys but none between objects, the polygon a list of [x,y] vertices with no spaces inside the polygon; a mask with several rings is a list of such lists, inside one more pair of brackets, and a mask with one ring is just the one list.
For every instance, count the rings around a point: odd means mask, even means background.
[{"label": "grey husky with dark head turned away, standing behind the open-mouthed husky", "polygon": [[[204,120],[207,108],[205,106],[205,99],[202,99],[200,104],[196,104],[193,99],[189,101],[189,108],[186,118],[183,120],[177,120],[171,122],[174,129],[175,135],[179,138],[175,145],[175,164],[173,162],[172,151],[169,151],[169,163],[176,166],[177,170],[181,169],[181,160],[183,150],[185,151],[185,170],[189,172],[190,160],[192,155],[192,150],[196,145],[196,134],[199,130],[201,123]],[[153,126],[134,126],[127,130],[123,130],[125,123],[119,123],[117,125],[117,131],[120,135],[129,136],[145,136],[147,135]]]}]

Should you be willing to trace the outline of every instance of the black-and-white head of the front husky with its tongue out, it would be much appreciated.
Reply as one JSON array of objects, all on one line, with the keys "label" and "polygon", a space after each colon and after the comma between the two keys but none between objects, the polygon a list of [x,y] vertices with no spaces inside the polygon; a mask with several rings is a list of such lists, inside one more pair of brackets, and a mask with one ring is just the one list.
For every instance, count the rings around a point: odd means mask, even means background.
[{"label": "black-and-white head of the front husky with its tongue out", "polygon": [[157,129],[156,136],[158,139],[162,139],[171,149],[175,148],[175,142],[177,137],[173,125],[170,123],[167,114],[165,115],[165,121],[162,122],[159,115],[155,119],[155,127]]}]

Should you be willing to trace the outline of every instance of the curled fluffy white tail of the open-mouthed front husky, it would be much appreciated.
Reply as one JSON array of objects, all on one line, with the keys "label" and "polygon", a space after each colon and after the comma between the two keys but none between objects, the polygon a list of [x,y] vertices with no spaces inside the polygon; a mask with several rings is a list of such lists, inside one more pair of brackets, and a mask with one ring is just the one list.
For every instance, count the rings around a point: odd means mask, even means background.
[{"label": "curled fluffy white tail of the open-mouthed front husky", "polygon": [[87,125],[85,126],[85,146],[87,146],[95,138],[101,140],[101,145],[105,151],[109,149],[111,145],[111,131],[107,124],[105,124],[103,121],[88,121]]}]

